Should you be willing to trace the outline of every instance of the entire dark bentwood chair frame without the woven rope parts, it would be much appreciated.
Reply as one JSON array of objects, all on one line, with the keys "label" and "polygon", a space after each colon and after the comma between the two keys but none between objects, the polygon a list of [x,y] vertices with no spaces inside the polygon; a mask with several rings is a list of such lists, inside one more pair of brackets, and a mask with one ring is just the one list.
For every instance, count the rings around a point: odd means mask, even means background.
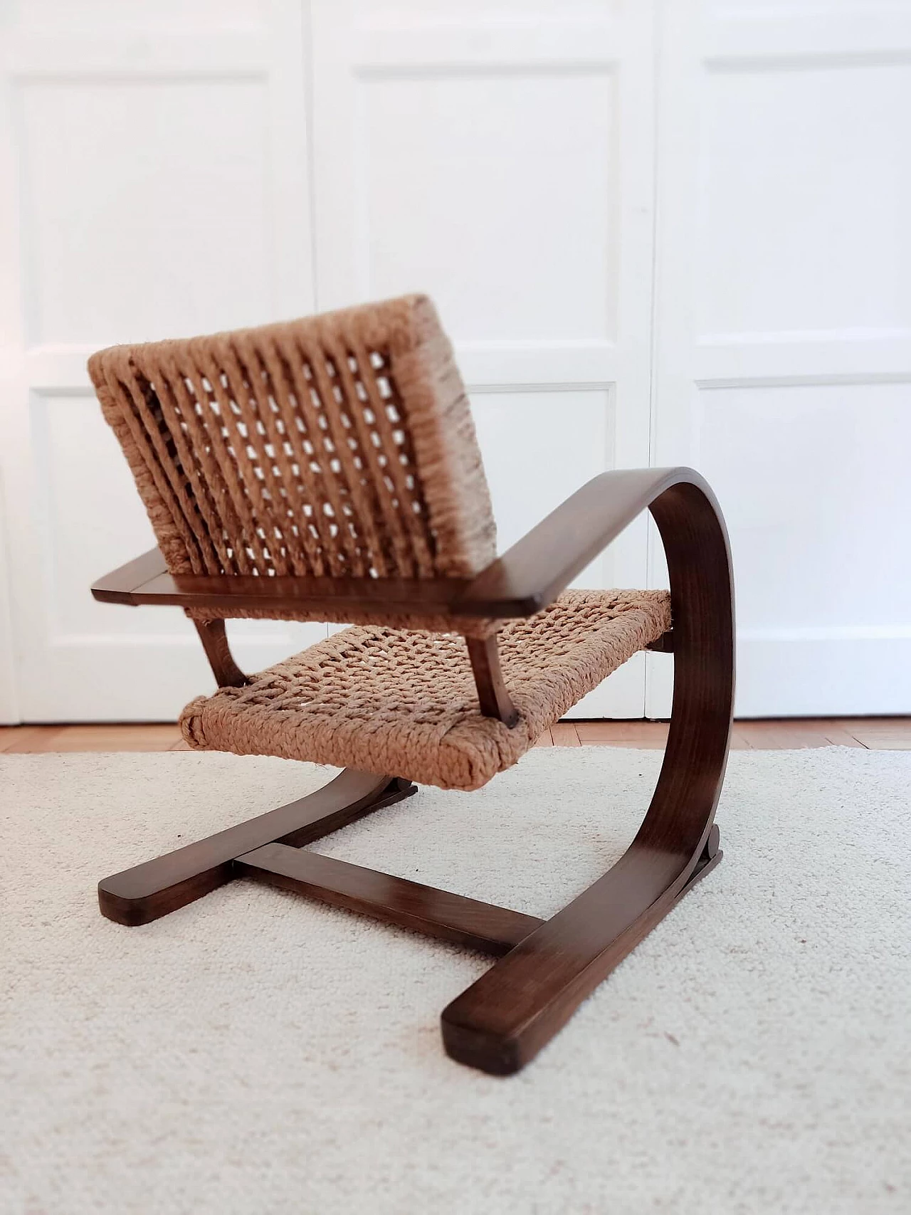
[{"label": "entire dark bentwood chair frame without the woven rope parts", "polygon": [[[471,580],[172,576],[158,549],[102,578],[96,599],[182,608],[426,610],[464,618],[531,616],[643,510],[662,537],[673,628],[667,748],[647,813],[626,854],[550,920],[521,915],[305,850],[305,844],[417,792],[411,781],[345,769],[326,787],[98,885],[101,911],[148,923],[237,877],[457,942],[499,957],[442,1013],[446,1051],[483,1072],[517,1072],[579,1002],[722,859],[714,812],[734,699],[734,601],[718,503],[691,469],[596,476]],[[198,625],[220,686],[245,682],[223,620]],[[510,724],[496,643],[469,644],[482,712]]]}]

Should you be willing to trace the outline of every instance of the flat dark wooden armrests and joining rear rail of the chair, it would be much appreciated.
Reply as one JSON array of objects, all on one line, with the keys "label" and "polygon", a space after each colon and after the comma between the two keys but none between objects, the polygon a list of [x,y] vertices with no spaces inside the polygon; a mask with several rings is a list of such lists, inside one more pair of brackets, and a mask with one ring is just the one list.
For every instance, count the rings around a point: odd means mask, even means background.
[{"label": "flat dark wooden armrests and joining rear rail of the chair", "polygon": [[696,486],[718,513],[705,480],[689,468],[602,473],[567,498],[473,580],[305,578],[171,575],[152,549],[92,587],[103,603],[387,615],[509,618],[547,608],[636,515],[677,485]]}]

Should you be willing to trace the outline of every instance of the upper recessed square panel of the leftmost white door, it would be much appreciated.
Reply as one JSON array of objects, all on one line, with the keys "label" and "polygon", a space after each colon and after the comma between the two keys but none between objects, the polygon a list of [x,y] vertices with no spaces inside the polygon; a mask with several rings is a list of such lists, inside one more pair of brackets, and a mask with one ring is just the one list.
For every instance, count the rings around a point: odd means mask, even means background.
[{"label": "upper recessed square panel of the leftmost white door", "polygon": [[17,101],[29,346],[270,309],[264,80],[33,78]]}]

